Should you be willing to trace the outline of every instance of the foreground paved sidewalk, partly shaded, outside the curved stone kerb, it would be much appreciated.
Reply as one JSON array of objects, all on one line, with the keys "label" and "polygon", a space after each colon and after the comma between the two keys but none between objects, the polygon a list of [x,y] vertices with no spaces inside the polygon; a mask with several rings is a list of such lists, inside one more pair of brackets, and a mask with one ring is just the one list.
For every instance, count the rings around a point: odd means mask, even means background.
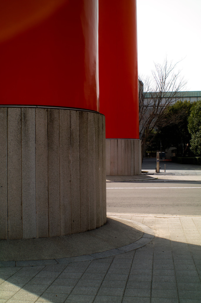
[{"label": "foreground paved sidewalk, partly shaded, outside the curved stone kerb", "polygon": [[155,238],[108,258],[1,267],[0,303],[201,302],[201,216],[121,217],[149,226]]}]

